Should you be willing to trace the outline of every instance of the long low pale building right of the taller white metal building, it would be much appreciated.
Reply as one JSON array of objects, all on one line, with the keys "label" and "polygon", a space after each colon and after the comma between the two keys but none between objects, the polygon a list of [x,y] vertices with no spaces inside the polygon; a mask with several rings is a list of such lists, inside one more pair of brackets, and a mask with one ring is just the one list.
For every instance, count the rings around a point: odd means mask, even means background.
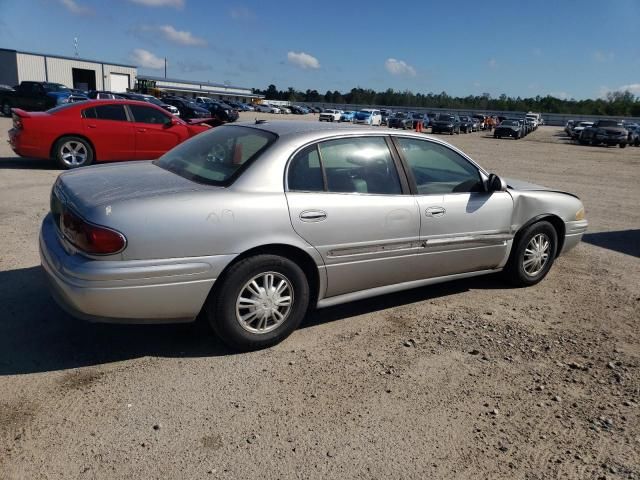
[{"label": "long low pale building right of the taller white metal building", "polygon": [[237,87],[222,83],[195,82],[192,80],[178,80],[175,78],[138,75],[138,88],[148,91],[158,89],[169,95],[185,97],[210,97],[217,100],[231,100],[235,102],[251,102],[264,98],[264,95],[253,93],[250,88]]}]

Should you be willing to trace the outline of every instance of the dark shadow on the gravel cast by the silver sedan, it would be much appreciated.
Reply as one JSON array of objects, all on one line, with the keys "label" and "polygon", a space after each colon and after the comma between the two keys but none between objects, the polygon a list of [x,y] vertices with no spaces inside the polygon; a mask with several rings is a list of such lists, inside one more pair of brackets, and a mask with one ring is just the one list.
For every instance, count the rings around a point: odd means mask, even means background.
[{"label": "dark shadow on the gravel cast by the silver sedan", "polygon": [[[508,288],[495,276],[417,288],[311,312],[300,328],[423,302],[469,289]],[[0,272],[0,376],[59,371],[122,360],[233,355],[206,321],[172,325],[89,323],[51,298],[41,267]]]}]

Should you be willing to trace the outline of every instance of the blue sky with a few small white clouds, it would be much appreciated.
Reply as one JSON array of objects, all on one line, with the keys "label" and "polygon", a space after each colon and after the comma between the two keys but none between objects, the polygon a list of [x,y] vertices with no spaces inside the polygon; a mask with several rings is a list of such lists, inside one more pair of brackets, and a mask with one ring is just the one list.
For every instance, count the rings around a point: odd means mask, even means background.
[{"label": "blue sky with a few small white clouds", "polygon": [[[378,6],[379,5],[379,6]],[[0,0],[0,48],[266,89],[640,95],[640,0]]]}]

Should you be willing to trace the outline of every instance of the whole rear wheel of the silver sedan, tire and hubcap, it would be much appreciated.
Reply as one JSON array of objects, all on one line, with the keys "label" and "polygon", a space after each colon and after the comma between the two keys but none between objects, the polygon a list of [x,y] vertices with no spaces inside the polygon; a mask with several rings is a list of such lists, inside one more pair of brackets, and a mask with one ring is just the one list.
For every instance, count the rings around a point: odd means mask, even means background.
[{"label": "whole rear wheel of the silver sedan, tire and hubcap", "polygon": [[256,255],[233,265],[207,300],[206,316],[235,350],[275,345],[300,324],[309,306],[309,282],[293,261]]}]

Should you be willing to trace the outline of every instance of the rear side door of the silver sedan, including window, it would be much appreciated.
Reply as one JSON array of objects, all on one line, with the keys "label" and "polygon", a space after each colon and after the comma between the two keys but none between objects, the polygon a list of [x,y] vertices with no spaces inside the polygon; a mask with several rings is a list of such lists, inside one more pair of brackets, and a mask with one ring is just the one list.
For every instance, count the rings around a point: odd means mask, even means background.
[{"label": "rear side door of the silver sedan, including window", "polygon": [[328,140],[292,158],[291,223],[324,260],[325,296],[412,279],[420,218],[398,172],[384,136]]}]

